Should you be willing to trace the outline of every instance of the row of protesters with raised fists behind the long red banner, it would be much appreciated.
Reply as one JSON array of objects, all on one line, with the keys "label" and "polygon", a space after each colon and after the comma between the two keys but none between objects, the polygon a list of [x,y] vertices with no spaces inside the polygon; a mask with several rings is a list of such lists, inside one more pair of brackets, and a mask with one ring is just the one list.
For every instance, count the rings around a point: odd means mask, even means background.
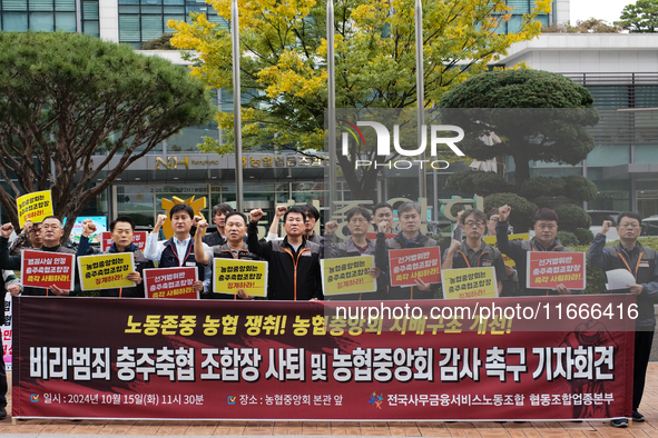
[{"label": "row of protesters with raised fists behind the long red banner", "polygon": [[[442,269],[461,269],[475,267],[493,267],[499,293],[501,296],[528,295],[571,295],[563,285],[556,289],[529,289],[527,282],[527,255],[531,251],[572,252],[557,239],[558,215],[548,208],[539,209],[534,215],[534,237],[524,241],[509,241],[511,208],[501,206],[484,213],[477,209],[461,211],[452,233],[452,242],[442,257]],[[135,222],[130,217],[121,216],[111,221],[109,231],[112,245],[107,252],[131,252],[135,270],[127,279],[135,282],[134,287],[101,290],[104,297],[145,297],[143,271],[154,268],[196,267],[198,279],[193,287],[202,298],[209,299],[254,299],[244,289],[236,292],[216,293],[213,287],[213,260],[215,258],[236,260],[265,260],[268,262],[267,299],[274,300],[322,300],[321,259],[374,257],[374,266],[369,269],[376,281],[376,292],[351,293],[338,296],[341,300],[415,300],[441,298],[440,283],[425,283],[421,278],[413,286],[391,286],[389,251],[395,249],[430,248],[438,243],[421,232],[421,207],[415,202],[403,202],[397,206],[396,215],[400,230],[393,230],[394,210],[387,203],[376,203],[371,209],[354,207],[346,213],[348,237],[341,241],[335,233],[336,221],[325,225],[324,236],[315,233],[315,225],[320,220],[318,210],[310,205],[303,207],[278,206],[274,220],[264,241],[258,239],[258,222],[264,212],[252,210],[249,217],[235,211],[227,203],[213,208],[212,220],[217,226],[214,232],[206,232],[208,221],[195,216],[191,207],[178,203],[169,210],[174,236],[160,240],[160,229],[167,220],[166,215],[158,215],[155,227],[149,233],[144,252],[132,242]],[[285,237],[278,236],[279,221],[283,220]],[[26,223],[22,232],[9,246],[9,237],[13,232],[11,223],[0,228],[0,269],[3,289],[12,296],[66,296],[76,295],[76,290],[62,290],[57,286],[48,289],[22,287],[11,275],[21,269],[21,248],[32,248],[47,252],[76,253],[87,256],[100,252],[89,245],[89,237],[96,231],[90,220],[84,223],[77,251],[60,245],[63,237],[63,225],[57,217],[48,217],[40,223]],[[372,230],[371,230],[372,227]],[[638,241],[640,235],[640,217],[634,212],[619,216],[617,230],[620,242],[606,247],[606,232],[611,227],[607,221],[600,233],[595,237],[588,259],[590,263],[603,270],[627,269],[635,283],[628,285],[626,292],[637,296],[639,317],[636,320],[636,362],[634,381],[634,420],[642,421],[638,412],[649,351],[652,344],[654,302],[658,298],[658,265],[656,251],[645,248]],[[373,240],[366,237],[375,231]],[[495,236],[497,245],[484,242],[484,236]],[[371,235],[372,236],[372,235]],[[508,256],[514,267],[503,262]],[[603,291],[601,291],[603,292]],[[1,384],[0,384],[1,385]],[[6,392],[0,388],[0,394]],[[0,406],[2,400],[0,400]],[[0,412],[1,414],[1,412]],[[615,420],[617,427],[625,427],[626,419]]]}]

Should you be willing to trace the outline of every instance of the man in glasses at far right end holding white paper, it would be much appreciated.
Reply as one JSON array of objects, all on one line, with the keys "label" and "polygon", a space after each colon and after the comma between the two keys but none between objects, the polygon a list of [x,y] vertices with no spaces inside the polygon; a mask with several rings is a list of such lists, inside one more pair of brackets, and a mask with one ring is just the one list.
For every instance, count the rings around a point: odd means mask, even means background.
[{"label": "man in glasses at far right end holding white paper", "polygon": [[[617,233],[619,243],[606,247],[606,233],[612,226],[609,220],[603,221],[601,232],[597,233],[589,247],[587,259],[590,263],[605,271],[612,269],[627,269],[635,277],[635,283],[628,285],[628,289],[619,290],[621,293],[637,296],[638,317],[635,332],[635,366],[632,375],[632,420],[645,421],[645,416],[638,412],[642,392],[645,391],[645,378],[651,345],[654,344],[654,330],[656,316],[654,303],[658,301],[658,263],[656,251],[645,248],[638,242],[641,232],[641,218],[631,211],[619,215],[617,219]],[[615,427],[627,427],[626,418],[612,420]]]}]

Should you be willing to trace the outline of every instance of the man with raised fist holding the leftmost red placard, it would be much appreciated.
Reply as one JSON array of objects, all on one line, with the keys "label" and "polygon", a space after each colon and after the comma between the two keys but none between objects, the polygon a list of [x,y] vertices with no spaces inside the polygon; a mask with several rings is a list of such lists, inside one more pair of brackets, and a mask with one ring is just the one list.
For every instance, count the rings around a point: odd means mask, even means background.
[{"label": "man with raised fist holding the leftmost red placard", "polygon": [[[0,228],[0,269],[8,269],[8,270],[21,270],[22,263],[22,255],[18,256],[9,256],[8,246],[9,246],[9,236],[13,232],[13,226],[11,223],[4,223]],[[63,225],[61,220],[56,216],[49,216],[41,222],[41,237],[43,239],[43,246],[39,249],[33,249],[35,251],[46,251],[46,252],[60,252],[60,253],[72,253],[75,255],[76,251],[61,246],[59,242],[63,236]],[[75,262],[75,261],[73,261]],[[76,273],[76,278],[77,278]],[[78,283],[78,281],[76,281]],[[32,287],[24,287],[22,295],[28,296],[67,296],[67,295],[76,295],[77,290],[79,290],[79,283],[73,290],[63,290],[59,287],[52,285],[48,289],[42,288],[32,288]]]}]

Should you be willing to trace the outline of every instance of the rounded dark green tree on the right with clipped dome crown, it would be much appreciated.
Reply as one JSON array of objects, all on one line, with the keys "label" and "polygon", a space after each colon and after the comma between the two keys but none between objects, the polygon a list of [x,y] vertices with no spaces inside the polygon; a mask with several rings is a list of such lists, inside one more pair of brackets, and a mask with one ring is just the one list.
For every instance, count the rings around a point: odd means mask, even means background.
[{"label": "rounded dark green tree on the right with clipped dome crown", "polygon": [[[446,92],[439,107],[443,122],[469,133],[460,142],[469,157],[513,158],[520,189],[530,178],[531,160],[577,165],[593,149],[593,138],[586,129],[599,120],[592,103],[585,87],[561,74],[502,70],[468,79]],[[491,132],[501,142],[482,140]]]}]

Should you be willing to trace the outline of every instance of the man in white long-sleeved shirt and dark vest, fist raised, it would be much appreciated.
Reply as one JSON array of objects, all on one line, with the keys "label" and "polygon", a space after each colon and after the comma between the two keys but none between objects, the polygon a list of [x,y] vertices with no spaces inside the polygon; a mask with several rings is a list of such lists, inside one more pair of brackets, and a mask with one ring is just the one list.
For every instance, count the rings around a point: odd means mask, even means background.
[{"label": "man in white long-sleeved shirt and dark vest, fist raised", "polygon": [[[158,268],[196,267],[199,280],[194,282],[194,289],[202,293],[210,290],[213,270],[196,260],[194,239],[189,235],[195,220],[198,221],[200,218],[195,218],[194,210],[188,205],[177,203],[169,210],[169,219],[174,236],[164,242],[158,241],[160,228],[167,221],[166,215],[158,215],[156,226],[146,239],[144,256],[151,261],[158,261]],[[210,248],[206,243],[202,245],[210,258]]]}]

